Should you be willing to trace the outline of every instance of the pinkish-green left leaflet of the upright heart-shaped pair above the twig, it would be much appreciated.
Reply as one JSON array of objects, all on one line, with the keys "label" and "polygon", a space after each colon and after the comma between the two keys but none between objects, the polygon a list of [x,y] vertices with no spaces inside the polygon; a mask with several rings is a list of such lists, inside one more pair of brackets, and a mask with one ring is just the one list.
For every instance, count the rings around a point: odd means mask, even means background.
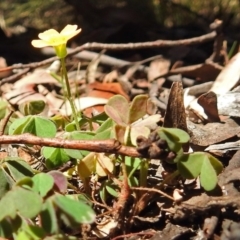
[{"label": "pinkish-green left leaflet of the upright heart-shaped pair above the twig", "polygon": [[104,110],[118,125],[126,126],[128,124],[129,104],[123,96],[115,95],[111,97],[104,106]]}]

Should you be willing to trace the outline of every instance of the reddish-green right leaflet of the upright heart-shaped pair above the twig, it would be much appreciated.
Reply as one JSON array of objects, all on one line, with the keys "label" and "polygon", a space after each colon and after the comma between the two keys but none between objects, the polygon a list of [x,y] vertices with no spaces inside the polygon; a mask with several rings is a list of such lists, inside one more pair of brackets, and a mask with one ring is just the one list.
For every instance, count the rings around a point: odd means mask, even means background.
[{"label": "reddish-green right leaflet of the upright heart-shaped pair above the twig", "polygon": [[133,99],[129,108],[127,123],[131,124],[147,114],[147,101],[147,95],[137,95]]}]

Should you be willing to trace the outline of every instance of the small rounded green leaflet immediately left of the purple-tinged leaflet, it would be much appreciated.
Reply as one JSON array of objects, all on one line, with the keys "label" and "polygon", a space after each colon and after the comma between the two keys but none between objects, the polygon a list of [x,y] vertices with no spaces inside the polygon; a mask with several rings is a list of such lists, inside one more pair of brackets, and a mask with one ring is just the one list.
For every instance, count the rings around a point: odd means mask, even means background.
[{"label": "small rounded green leaflet immediately left of the purple-tinged leaflet", "polygon": [[45,197],[54,186],[53,177],[47,173],[38,173],[32,178],[32,180],[32,189],[39,193],[41,197]]}]

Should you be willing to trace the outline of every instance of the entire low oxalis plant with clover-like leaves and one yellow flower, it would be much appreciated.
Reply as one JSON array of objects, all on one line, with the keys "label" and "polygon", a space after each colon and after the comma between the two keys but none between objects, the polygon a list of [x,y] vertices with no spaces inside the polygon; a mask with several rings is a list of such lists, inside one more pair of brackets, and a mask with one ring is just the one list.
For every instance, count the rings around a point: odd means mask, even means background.
[{"label": "entire low oxalis plant with clover-like leaves and one yellow flower", "polygon": [[[31,101],[19,106],[22,118],[12,117],[7,126],[9,135],[30,133],[42,138],[53,138],[62,130],[61,138],[67,140],[104,140],[114,138],[121,145],[135,147],[140,157],[96,153],[81,149],[43,147],[48,172],[32,169],[23,159],[6,157],[0,161],[0,236],[14,239],[68,239],[63,226],[79,228],[79,224],[92,223],[90,181],[101,186],[97,192],[103,203],[109,196],[116,197],[121,206],[122,186],[147,187],[148,163],[150,159],[161,159],[176,165],[171,178],[200,179],[206,191],[217,185],[217,174],[222,164],[208,153],[184,153],[182,146],[189,135],[175,128],[159,127],[160,115],[147,95],[136,96],[129,103],[116,95],[105,105],[105,113],[92,118],[78,115],[70,92],[64,59],[67,41],[78,34],[76,25],[68,25],[60,33],[50,29],[34,40],[35,47],[53,46],[62,63],[62,84],[70,102],[73,122],[59,116],[44,117],[45,102]],[[7,103],[0,102],[0,118],[7,114]],[[93,130],[93,123],[99,127]],[[84,130],[83,130],[84,126]],[[26,146],[31,147],[31,146]],[[54,169],[71,161],[73,167],[64,174]],[[84,186],[83,194],[68,194],[67,177],[76,174]],[[66,177],[67,176],[67,177]],[[165,180],[166,181],[166,180]],[[117,207],[119,210],[120,207]],[[69,239],[75,239],[69,237]]]}]

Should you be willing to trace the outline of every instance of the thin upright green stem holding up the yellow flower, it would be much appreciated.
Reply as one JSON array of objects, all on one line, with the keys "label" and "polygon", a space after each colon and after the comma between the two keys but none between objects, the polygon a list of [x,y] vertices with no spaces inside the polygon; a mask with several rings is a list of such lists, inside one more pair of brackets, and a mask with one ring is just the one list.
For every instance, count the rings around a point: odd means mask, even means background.
[{"label": "thin upright green stem holding up the yellow flower", "polygon": [[80,131],[78,116],[77,116],[77,113],[76,113],[76,108],[74,106],[74,102],[73,102],[73,98],[72,98],[72,94],[71,94],[71,90],[70,90],[70,84],[69,84],[69,81],[68,81],[67,69],[66,69],[66,64],[65,64],[65,59],[64,58],[61,58],[61,64],[62,64],[62,76],[65,79],[65,85],[66,85],[66,90],[67,90],[67,100],[69,101],[71,109],[72,109],[72,113],[73,113],[74,121],[75,121],[75,124],[76,124],[76,128],[77,128],[78,131]]}]

